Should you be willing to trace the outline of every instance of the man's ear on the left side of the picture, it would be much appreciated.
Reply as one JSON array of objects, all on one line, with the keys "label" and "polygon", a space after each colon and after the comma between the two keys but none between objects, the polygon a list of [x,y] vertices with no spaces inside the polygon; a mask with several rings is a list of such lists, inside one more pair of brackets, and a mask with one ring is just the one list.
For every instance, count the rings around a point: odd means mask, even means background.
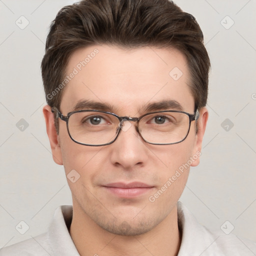
[{"label": "man's ear on the left side of the picture", "polygon": [[45,123],[46,123],[46,131],[50,141],[50,148],[52,152],[52,158],[55,163],[62,165],[62,154],[59,144],[59,136],[56,132],[54,126],[54,114],[51,112],[51,107],[49,105],[45,105],[42,109]]}]

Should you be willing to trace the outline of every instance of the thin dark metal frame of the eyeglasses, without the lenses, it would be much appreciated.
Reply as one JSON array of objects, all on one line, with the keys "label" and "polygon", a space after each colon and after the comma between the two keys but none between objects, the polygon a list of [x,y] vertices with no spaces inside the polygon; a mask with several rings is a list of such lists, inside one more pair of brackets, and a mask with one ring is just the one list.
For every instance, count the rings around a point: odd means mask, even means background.
[{"label": "thin dark metal frame of the eyeglasses, without the lenses", "polygon": [[[61,120],[65,121],[66,122],[66,128],[67,128],[67,132],[68,132],[68,135],[69,137],[75,142],[75,143],[78,143],[78,144],[81,144],[81,145],[86,145],[86,146],[104,146],[104,145],[109,145],[111,143],[113,143],[116,138],[118,137],[120,131],[121,131],[121,126],[122,126],[122,123],[124,121],[135,121],[137,122],[137,125],[136,125],[136,131],[138,132],[138,134],[140,135],[140,137],[146,142],[146,143],[149,143],[149,144],[153,144],[153,145],[171,145],[171,144],[177,144],[177,143],[180,143],[182,142],[183,140],[185,140],[185,138],[187,137],[188,133],[189,133],[189,130],[190,130],[190,126],[191,126],[191,121],[196,121],[198,118],[199,118],[199,110],[198,108],[196,108],[195,112],[193,114],[190,114],[190,113],[187,113],[187,112],[184,112],[184,111],[180,111],[180,110],[162,110],[162,111],[155,111],[155,112],[149,112],[149,113],[146,113],[146,114],[143,114],[139,117],[129,117],[129,116],[119,116],[115,113],[111,113],[111,112],[107,112],[107,111],[101,111],[101,110],[96,110],[96,109],[89,109],[89,110],[77,110],[77,111],[72,111],[72,112],[68,112],[67,115],[63,115],[55,106],[51,107],[51,112],[55,112],[56,110],[56,118],[60,118]],[[69,133],[69,129],[68,129],[68,119],[70,117],[71,114],[73,113],[78,113],[78,112],[101,112],[101,113],[107,113],[107,114],[111,114],[111,115],[114,115],[115,117],[118,118],[119,122],[120,122],[120,125],[117,127],[117,134],[115,136],[115,138],[108,142],[108,143],[104,143],[104,144],[99,144],[99,145],[92,145],[92,144],[85,144],[85,143],[81,143],[81,142],[78,142],[76,140],[74,140],[72,138],[72,136],[70,135]],[[139,120],[146,116],[146,115],[149,115],[149,114],[153,114],[153,113],[163,113],[163,112],[177,112],[177,113],[184,113],[186,115],[188,115],[189,117],[189,127],[188,127],[188,130],[187,130],[187,133],[185,135],[185,137],[182,139],[182,140],[179,140],[177,142],[172,142],[172,143],[152,143],[152,142],[148,142],[147,140],[145,140],[142,135],[140,134],[139,130],[138,130],[138,122]]]}]

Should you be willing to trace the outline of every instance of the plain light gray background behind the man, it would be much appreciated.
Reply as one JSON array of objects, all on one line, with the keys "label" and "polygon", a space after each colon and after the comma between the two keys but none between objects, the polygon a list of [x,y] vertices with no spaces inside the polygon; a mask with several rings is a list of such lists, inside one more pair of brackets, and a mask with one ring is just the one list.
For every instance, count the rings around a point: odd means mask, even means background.
[{"label": "plain light gray background behind the man", "polygon": [[[0,248],[45,232],[71,204],[45,131],[40,61],[50,21],[72,2],[0,0]],[[175,2],[196,17],[212,65],[201,161],[180,200],[205,226],[256,240],[256,1]]]}]

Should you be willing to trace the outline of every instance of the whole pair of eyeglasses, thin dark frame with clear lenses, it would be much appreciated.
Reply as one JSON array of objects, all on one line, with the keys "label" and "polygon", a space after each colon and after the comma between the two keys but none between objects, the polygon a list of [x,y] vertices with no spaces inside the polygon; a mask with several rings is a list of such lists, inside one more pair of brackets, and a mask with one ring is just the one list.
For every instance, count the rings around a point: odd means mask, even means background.
[{"label": "whole pair of eyeglasses, thin dark frame with clear lenses", "polygon": [[[66,122],[70,138],[82,145],[103,146],[113,143],[120,131],[126,131],[124,121],[135,121],[141,138],[154,145],[169,145],[183,141],[190,123],[197,120],[199,111],[190,114],[179,110],[150,112],[140,117],[118,116],[100,110],[77,110],[63,115],[56,107],[51,108],[56,117]],[[129,123],[128,126],[131,126]]]}]

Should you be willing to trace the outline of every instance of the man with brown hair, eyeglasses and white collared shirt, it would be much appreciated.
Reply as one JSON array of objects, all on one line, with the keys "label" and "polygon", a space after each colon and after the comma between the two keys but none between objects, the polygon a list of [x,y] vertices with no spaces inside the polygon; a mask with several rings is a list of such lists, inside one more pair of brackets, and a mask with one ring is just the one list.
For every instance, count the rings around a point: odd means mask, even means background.
[{"label": "man with brown hair, eyeglasses and white collared shirt", "polygon": [[170,1],[62,8],[41,64],[43,114],[73,205],[0,255],[255,254],[178,202],[199,163],[209,66],[194,17]]}]

